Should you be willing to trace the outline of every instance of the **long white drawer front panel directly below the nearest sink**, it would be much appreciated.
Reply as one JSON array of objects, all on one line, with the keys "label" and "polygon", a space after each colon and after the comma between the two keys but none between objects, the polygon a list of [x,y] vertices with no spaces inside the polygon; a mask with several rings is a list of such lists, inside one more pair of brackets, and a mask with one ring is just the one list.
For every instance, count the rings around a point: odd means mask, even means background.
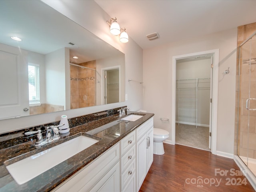
[{"label": "long white drawer front panel directly below the nearest sink", "polygon": [[[120,159],[119,142],[78,171],[52,192],[76,192],[81,188],[90,189],[104,176]],[[118,165],[120,165],[118,163]]]}]

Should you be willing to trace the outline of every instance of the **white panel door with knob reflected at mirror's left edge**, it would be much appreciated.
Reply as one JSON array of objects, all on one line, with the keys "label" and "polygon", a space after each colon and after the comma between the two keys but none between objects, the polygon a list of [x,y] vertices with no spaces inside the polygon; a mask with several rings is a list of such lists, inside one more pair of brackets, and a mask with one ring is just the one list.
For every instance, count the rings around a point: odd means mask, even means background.
[{"label": "white panel door with knob reflected at mirror's left edge", "polygon": [[29,115],[27,52],[0,44],[0,120]]}]

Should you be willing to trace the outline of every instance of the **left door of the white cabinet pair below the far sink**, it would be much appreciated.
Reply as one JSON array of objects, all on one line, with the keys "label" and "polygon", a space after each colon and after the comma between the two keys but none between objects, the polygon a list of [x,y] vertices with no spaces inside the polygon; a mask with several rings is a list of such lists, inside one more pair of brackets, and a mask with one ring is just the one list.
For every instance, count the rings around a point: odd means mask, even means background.
[{"label": "left door of the white cabinet pair below the far sink", "polygon": [[146,150],[146,135],[143,136],[140,140],[137,141],[137,191],[140,190],[140,187],[144,181],[144,178],[147,175],[147,150]]}]

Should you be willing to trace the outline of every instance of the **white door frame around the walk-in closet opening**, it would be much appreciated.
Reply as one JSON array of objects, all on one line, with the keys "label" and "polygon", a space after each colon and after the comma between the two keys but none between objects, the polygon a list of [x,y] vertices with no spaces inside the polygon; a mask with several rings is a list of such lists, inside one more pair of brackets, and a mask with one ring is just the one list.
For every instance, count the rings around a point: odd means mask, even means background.
[{"label": "white door frame around the walk-in closet opening", "polygon": [[213,54],[212,74],[212,154],[217,150],[217,109],[218,109],[218,71],[219,71],[219,49],[195,52],[172,57],[172,144],[175,144],[175,119],[176,119],[176,60],[199,55]]}]

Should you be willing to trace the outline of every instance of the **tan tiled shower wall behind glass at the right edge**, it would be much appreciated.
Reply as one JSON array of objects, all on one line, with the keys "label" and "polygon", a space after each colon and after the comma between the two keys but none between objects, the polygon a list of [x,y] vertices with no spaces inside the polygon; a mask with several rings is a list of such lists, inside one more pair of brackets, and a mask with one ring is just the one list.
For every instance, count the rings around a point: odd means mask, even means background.
[{"label": "tan tiled shower wall behind glass at the right edge", "polygon": [[[237,47],[242,44],[247,38],[249,38],[256,31],[256,23],[247,24],[238,27],[238,37],[237,37]],[[255,38],[254,38],[255,39]],[[249,47],[248,52],[249,52]],[[246,45],[242,46],[242,49],[246,49]],[[240,67],[239,76],[239,49],[237,50],[237,60],[236,60],[236,117],[239,112],[238,122],[235,122],[235,142],[234,142],[234,154],[240,156],[245,156],[248,158],[256,158],[256,111],[250,111],[250,116],[248,117],[248,110],[246,110],[246,100],[248,99],[249,92],[249,64],[243,64],[243,59],[248,59],[247,56],[241,54],[240,62],[242,66]],[[252,58],[255,58],[255,54],[252,54]],[[254,70],[255,68],[255,70]],[[238,82],[238,80],[240,82]],[[238,87],[239,86],[239,87]],[[256,64],[251,65],[251,91],[250,97],[256,98]],[[238,96],[239,96],[239,106],[238,106]],[[256,108],[252,106],[251,108]],[[249,120],[249,132],[248,132],[248,118]],[[237,131],[238,129],[238,131]],[[238,134],[238,135],[237,135]]]}]

